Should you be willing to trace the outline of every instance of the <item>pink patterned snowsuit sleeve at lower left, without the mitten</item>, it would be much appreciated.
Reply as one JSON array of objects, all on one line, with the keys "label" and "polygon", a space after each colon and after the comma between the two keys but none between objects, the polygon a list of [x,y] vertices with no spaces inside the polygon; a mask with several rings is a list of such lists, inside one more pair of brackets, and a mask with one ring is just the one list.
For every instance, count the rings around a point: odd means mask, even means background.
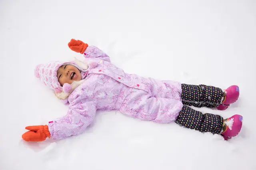
[{"label": "pink patterned snowsuit sleeve at lower left, without the mitten", "polygon": [[51,138],[64,139],[68,136],[82,133],[92,123],[96,114],[96,103],[86,101],[84,103],[70,104],[68,114],[51,121],[48,124]]}]

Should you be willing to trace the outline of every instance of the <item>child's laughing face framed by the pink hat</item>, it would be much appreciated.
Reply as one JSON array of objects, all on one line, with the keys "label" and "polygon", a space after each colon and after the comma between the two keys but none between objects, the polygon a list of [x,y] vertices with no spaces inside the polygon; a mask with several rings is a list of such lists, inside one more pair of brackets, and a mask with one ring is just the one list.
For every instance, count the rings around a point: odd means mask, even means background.
[{"label": "child's laughing face framed by the pink hat", "polygon": [[80,71],[73,65],[62,65],[59,67],[57,77],[61,86],[64,83],[71,84],[73,81],[80,81],[82,79]]}]

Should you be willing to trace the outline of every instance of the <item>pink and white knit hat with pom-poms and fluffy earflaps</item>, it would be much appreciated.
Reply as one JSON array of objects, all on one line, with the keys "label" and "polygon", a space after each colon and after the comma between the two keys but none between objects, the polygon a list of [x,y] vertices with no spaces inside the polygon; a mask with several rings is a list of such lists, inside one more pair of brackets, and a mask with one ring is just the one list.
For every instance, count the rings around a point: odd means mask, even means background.
[{"label": "pink and white knit hat with pom-poms and fluffy earflaps", "polygon": [[[39,64],[36,66],[34,70],[35,76],[40,79],[47,87],[53,89],[55,94],[60,99],[66,99],[69,94],[78,87],[83,81],[81,80],[78,82],[74,82],[71,85],[68,83],[64,84],[64,87],[61,87],[60,83],[58,82],[57,71],[59,67],[62,65],[73,65],[74,67],[78,68],[82,72],[86,72],[88,69],[88,63],[86,61],[80,61],[78,59],[74,59],[74,61],[69,62],[62,62],[62,61],[55,61],[46,64]],[[96,63],[90,63],[90,67],[96,67]]]}]

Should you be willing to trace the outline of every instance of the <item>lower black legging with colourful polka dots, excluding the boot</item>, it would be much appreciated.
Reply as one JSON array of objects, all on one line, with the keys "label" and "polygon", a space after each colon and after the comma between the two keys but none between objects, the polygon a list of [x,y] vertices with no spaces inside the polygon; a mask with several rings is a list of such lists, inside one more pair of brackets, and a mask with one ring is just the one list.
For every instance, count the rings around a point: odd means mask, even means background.
[{"label": "lower black legging with colourful polka dots, excluding the boot", "polygon": [[212,132],[213,134],[219,134],[223,128],[223,117],[220,115],[202,114],[188,106],[182,107],[175,122],[182,127],[199,130],[200,132]]}]

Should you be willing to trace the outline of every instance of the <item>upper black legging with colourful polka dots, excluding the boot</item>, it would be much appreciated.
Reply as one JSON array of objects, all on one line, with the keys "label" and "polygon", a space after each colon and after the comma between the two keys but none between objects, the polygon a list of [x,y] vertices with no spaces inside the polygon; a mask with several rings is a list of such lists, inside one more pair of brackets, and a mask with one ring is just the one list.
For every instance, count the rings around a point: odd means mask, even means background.
[{"label": "upper black legging with colourful polka dots, excluding the boot", "polygon": [[182,103],[195,107],[218,107],[222,101],[223,91],[218,87],[206,85],[182,84]]}]

